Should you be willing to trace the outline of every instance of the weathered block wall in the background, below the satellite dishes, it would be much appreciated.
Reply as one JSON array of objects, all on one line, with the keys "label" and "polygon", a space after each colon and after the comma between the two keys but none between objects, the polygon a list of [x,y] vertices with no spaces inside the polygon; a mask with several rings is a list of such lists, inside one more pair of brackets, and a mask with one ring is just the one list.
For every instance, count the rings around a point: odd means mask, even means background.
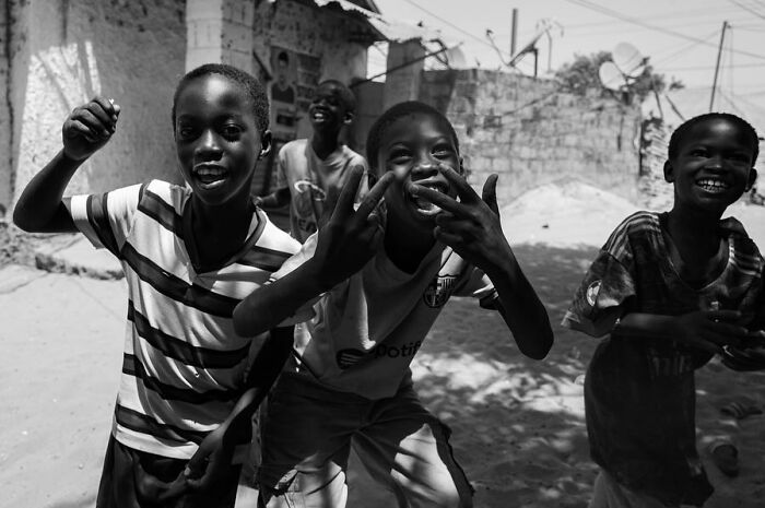
[{"label": "weathered block wall in the background, below the satellite dishes", "polygon": [[570,178],[636,199],[637,106],[564,93],[551,80],[474,69],[425,72],[420,99],[452,121],[474,187],[499,175],[501,205]]}]

